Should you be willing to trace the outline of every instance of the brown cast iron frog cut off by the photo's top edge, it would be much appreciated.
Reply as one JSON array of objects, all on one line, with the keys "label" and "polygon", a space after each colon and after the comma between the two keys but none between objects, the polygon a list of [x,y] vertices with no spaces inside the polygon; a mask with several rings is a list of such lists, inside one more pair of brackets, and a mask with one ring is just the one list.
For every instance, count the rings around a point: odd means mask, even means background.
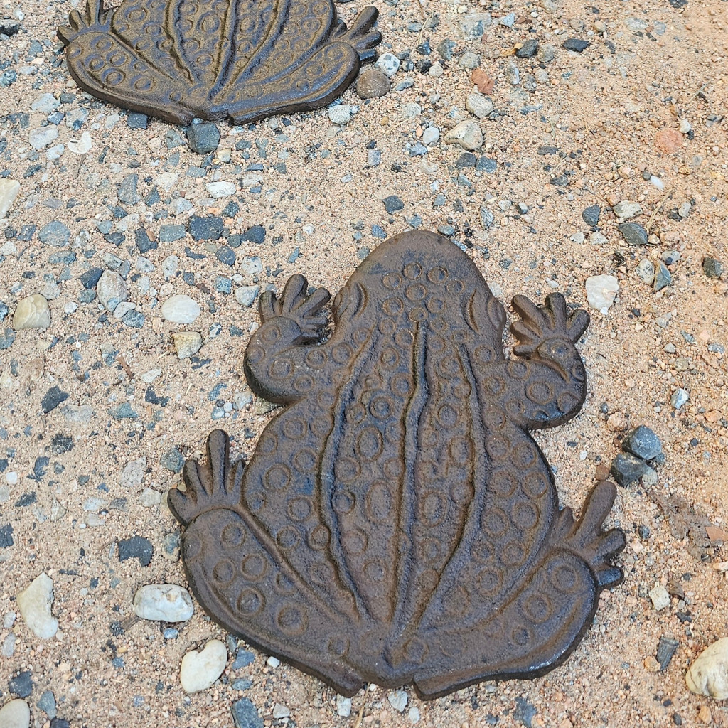
[{"label": "brown cast iron frog cut off by the photo's top edge", "polygon": [[376,16],[365,7],[347,28],[333,0],[87,0],[58,37],[98,98],[177,124],[242,124],[333,101],[376,58]]}]

